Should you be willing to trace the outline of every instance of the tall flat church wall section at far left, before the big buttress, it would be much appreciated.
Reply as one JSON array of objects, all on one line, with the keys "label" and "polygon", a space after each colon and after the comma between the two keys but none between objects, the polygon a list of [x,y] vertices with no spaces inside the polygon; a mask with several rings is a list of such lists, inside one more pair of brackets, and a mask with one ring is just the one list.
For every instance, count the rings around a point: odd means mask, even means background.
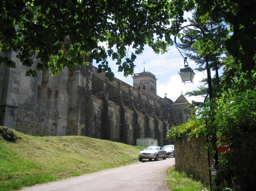
[{"label": "tall flat church wall section at far left, before the big buttress", "polygon": [[35,78],[25,76],[28,68],[17,61],[16,53],[11,59],[18,63],[16,68],[1,65],[0,125],[31,135],[66,135],[68,69],[48,78],[46,86],[42,84],[42,71]]}]

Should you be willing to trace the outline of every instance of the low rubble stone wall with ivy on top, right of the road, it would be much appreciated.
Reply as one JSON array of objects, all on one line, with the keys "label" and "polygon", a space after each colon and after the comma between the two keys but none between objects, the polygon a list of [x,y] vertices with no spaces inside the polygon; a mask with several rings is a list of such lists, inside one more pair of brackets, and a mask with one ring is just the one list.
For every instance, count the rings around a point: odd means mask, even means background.
[{"label": "low rubble stone wall with ivy on top, right of the road", "polygon": [[[208,154],[205,150],[206,138],[203,139],[181,139],[174,142],[175,145],[175,168],[185,171],[193,178],[209,185]],[[214,156],[210,150],[210,165],[213,165]],[[211,175],[213,178],[213,175]],[[212,179],[213,183],[213,179]]]}]

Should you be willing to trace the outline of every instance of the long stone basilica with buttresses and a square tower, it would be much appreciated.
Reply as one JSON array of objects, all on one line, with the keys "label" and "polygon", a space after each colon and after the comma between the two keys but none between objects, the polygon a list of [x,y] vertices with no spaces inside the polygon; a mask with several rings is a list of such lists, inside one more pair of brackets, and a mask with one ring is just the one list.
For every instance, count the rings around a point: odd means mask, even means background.
[{"label": "long stone basilica with buttresses and a square tower", "polygon": [[[116,78],[112,82],[97,68],[62,69],[49,77],[25,76],[16,53],[16,68],[0,65],[0,125],[36,136],[78,135],[136,145],[136,139],[157,139],[169,144],[166,133],[186,123],[191,109],[181,95],[175,102],[157,96],[156,76],[134,74],[133,86]],[[34,68],[33,68],[34,67]],[[32,70],[35,66],[32,66]]]}]

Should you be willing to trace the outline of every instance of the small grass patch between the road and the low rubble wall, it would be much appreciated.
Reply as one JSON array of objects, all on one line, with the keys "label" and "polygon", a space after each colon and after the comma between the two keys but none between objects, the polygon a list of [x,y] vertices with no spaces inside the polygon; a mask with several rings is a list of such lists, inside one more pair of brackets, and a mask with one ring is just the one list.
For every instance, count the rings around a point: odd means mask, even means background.
[{"label": "small grass patch between the road and the low rubble wall", "polygon": [[208,187],[201,182],[195,181],[185,172],[175,170],[175,167],[170,167],[167,171],[167,185],[171,191],[207,191]]}]

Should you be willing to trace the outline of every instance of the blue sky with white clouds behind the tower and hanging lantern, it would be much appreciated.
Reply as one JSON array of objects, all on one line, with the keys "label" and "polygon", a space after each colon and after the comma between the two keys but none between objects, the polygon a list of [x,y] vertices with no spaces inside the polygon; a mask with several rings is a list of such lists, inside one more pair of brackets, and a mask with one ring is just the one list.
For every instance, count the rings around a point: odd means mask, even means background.
[{"label": "blue sky with white clouds behind the tower and hanging lantern", "polygon": [[[191,14],[189,13],[186,14],[186,16],[190,15]],[[189,22],[184,23],[183,26],[188,24]],[[174,36],[172,37],[172,39],[174,40]],[[187,91],[197,90],[197,87],[201,85],[199,81],[201,81],[202,78],[207,77],[206,71],[195,71],[194,68],[196,68],[197,65],[193,61],[190,61],[188,59],[189,67],[191,67],[196,74],[194,77],[194,84],[186,83],[186,85],[184,85],[184,83],[182,83],[181,81],[180,75],[178,74],[180,68],[184,66],[184,61],[175,45],[170,46],[169,51],[165,54],[155,54],[153,50],[147,45],[144,48],[145,50],[143,51],[143,53],[137,56],[134,62],[134,64],[136,65],[134,68],[134,74],[143,72],[145,66],[145,71],[151,72],[157,78],[156,91],[157,95],[159,95],[160,97],[164,97],[166,93],[166,96],[168,98],[175,101],[181,95],[181,93],[183,93],[184,95]],[[109,59],[108,62],[109,66],[112,69],[112,72],[114,72],[115,74],[115,78],[122,80],[130,86],[133,86],[132,76],[128,76],[127,78],[124,77],[122,72],[117,72],[118,67],[114,61]],[[143,64],[144,62],[146,64]],[[97,64],[95,62],[93,63],[93,65],[97,67]],[[212,73],[211,76],[213,75],[214,74]],[[190,103],[192,100],[201,102],[203,102],[204,100],[204,98],[201,96],[185,97]]]}]

